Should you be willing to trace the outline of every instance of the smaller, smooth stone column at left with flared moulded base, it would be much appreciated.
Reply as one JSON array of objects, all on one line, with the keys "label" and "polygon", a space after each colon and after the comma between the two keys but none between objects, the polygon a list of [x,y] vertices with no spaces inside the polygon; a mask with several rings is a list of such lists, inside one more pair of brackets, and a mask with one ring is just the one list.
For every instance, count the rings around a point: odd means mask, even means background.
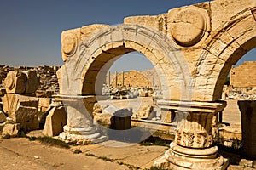
[{"label": "smaller, smooth stone column at left with flared moulded base", "polygon": [[62,101],[67,111],[67,125],[63,127],[64,132],[60,133],[60,139],[76,144],[100,143],[108,139],[93,124],[95,96],[58,95],[55,100]]}]

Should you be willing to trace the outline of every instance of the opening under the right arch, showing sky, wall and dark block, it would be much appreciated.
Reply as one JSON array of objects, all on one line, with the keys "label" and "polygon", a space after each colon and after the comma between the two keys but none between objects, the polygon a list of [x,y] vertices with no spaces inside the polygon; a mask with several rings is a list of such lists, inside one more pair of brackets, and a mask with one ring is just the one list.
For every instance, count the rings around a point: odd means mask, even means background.
[{"label": "opening under the right arch, showing sky, wall and dark block", "polygon": [[[232,145],[234,148],[242,149],[242,156],[248,160],[255,157],[253,148],[253,125],[255,120],[253,105],[255,100],[255,68],[254,61],[256,48],[247,51],[242,55],[230,69],[230,84],[224,85],[222,99],[227,102],[227,106],[220,114],[219,122],[226,127],[219,131],[219,137],[225,135],[230,139],[224,139],[220,144]],[[236,55],[236,57],[238,57]]]}]

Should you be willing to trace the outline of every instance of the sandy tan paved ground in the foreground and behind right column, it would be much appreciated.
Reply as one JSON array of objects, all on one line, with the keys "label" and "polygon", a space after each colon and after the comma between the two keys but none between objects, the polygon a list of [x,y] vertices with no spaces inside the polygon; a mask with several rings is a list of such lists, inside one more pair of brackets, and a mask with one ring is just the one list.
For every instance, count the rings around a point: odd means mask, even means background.
[{"label": "sandy tan paved ground in the foreground and behind right column", "polygon": [[[119,103],[119,102],[118,102]],[[119,104],[118,104],[119,105]],[[143,104],[144,105],[144,104]],[[228,101],[224,110],[224,122],[236,126],[240,121],[240,112],[236,108],[236,101]],[[37,132],[37,133],[40,133]],[[80,154],[73,151],[79,149]],[[142,146],[140,144],[127,145],[109,140],[102,144],[71,146],[71,149],[60,149],[46,146],[38,141],[26,138],[0,139],[0,169],[4,170],[79,170],[79,169],[145,169],[163,156],[166,146]],[[88,156],[91,155],[91,156]],[[99,159],[107,157],[112,161]],[[252,169],[246,164],[230,165],[228,170]]]}]

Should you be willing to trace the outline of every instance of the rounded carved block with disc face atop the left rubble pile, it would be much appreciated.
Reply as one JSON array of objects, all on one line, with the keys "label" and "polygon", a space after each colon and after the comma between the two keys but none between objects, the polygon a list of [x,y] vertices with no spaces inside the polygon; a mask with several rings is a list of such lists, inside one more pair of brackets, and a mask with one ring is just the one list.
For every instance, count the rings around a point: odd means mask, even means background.
[{"label": "rounded carved block with disc face atop the left rubble pile", "polygon": [[24,94],[26,92],[26,74],[20,71],[9,71],[5,80],[7,93]]}]

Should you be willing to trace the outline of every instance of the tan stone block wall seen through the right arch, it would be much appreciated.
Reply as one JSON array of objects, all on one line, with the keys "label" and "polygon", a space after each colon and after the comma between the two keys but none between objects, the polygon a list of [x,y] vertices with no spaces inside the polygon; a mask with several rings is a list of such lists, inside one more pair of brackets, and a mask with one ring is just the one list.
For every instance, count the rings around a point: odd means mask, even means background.
[{"label": "tan stone block wall seen through the right arch", "polygon": [[230,71],[230,85],[234,88],[256,87],[256,61],[246,61]]}]

